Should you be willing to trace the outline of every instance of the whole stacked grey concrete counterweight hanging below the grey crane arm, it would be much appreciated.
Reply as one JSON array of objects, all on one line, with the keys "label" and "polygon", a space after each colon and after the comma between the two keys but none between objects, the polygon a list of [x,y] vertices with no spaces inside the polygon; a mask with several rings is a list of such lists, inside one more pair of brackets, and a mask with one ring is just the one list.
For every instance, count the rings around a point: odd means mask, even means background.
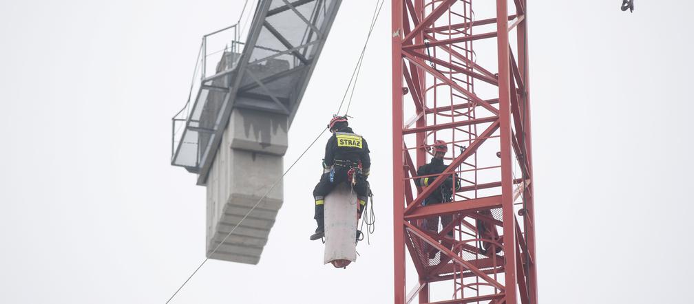
[{"label": "whole stacked grey concrete counterweight hanging below the grey crane arm", "polygon": [[[235,108],[232,112],[208,176],[208,257],[246,264],[260,260],[282,207],[287,121],[287,115],[257,110]],[[217,251],[212,254],[214,248]]]}]

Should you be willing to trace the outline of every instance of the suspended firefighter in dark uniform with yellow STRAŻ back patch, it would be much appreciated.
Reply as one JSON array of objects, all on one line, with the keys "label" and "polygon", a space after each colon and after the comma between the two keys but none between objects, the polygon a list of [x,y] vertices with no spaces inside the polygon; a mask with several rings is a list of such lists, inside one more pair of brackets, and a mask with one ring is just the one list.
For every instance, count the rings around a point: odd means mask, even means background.
[{"label": "suspended firefighter in dark uniform with yellow STRA\u017b back patch", "polygon": [[[323,174],[318,185],[313,190],[316,201],[314,219],[318,227],[310,239],[320,239],[325,235],[324,226],[324,200],[340,183],[348,182],[357,193],[359,205],[357,207],[358,217],[362,216],[366,208],[370,190],[369,176],[371,158],[369,158],[369,145],[361,135],[357,135],[348,127],[346,116],[336,116],[328,124],[332,137],[325,145],[325,158],[323,158]],[[356,238],[359,239],[362,232],[357,230]]]}]

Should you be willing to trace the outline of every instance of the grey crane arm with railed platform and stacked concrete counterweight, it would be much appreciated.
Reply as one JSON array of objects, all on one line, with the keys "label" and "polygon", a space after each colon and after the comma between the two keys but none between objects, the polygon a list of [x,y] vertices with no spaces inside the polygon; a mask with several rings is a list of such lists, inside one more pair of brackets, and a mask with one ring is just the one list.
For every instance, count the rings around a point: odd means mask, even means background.
[{"label": "grey crane arm with railed platform and stacked concrete counterweight", "polygon": [[186,125],[198,144],[172,163],[207,187],[208,257],[260,261],[282,207],[287,130],[340,3],[259,1],[242,53],[224,53],[217,76],[203,80],[191,115],[199,119]]}]

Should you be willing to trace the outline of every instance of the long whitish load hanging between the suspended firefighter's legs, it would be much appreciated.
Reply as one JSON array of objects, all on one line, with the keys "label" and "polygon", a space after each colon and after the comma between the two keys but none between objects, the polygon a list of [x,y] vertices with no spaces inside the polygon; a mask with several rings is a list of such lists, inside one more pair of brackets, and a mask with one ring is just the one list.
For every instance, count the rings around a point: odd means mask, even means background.
[{"label": "long whitish load hanging between the suspended firefighter's legs", "polygon": [[325,254],[323,262],[337,268],[357,261],[357,193],[347,183],[325,196]]}]

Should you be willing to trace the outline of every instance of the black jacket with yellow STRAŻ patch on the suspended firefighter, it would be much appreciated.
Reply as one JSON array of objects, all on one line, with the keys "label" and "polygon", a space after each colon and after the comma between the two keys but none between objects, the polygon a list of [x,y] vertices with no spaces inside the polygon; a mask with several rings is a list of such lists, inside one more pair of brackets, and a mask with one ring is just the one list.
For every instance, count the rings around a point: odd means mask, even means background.
[{"label": "black jacket with yellow STRA\u017b patch on the suspended firefighter", "polygon": [[341,128],[328,140],[325,145],[325,158],[323,164],[330,167],[335,160],[350,160],[362,163],[362,170],[369,171],[371,158],[369,157],[369,145],[361,135],[354,133],[352,128]]}]

